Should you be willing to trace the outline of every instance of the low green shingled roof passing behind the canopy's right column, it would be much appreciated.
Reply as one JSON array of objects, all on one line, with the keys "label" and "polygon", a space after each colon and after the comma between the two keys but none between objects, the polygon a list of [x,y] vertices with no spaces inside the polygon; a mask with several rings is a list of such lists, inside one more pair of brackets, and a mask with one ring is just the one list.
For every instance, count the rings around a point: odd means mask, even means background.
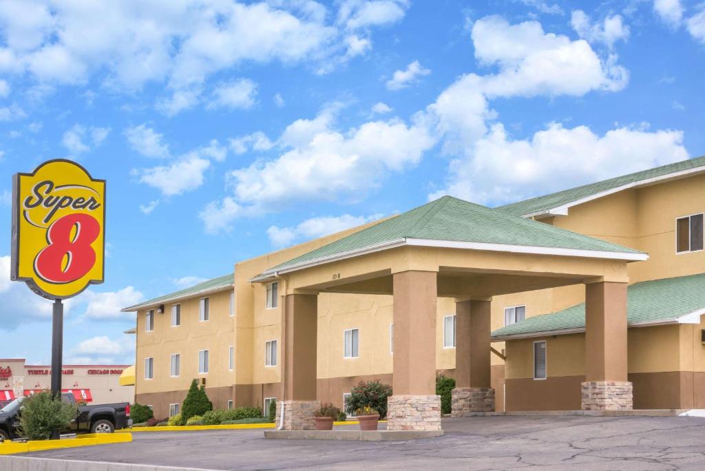
[{"label": "low green shingled roof passing behind the canopy's right column", "polygon": [[[705,274],[642,281],[627,288],[627,322],[630,325],[668,322],[705,309]],[[493,337],[537,332],[584,329],[585,303],[529,317],[492,332]]]}]

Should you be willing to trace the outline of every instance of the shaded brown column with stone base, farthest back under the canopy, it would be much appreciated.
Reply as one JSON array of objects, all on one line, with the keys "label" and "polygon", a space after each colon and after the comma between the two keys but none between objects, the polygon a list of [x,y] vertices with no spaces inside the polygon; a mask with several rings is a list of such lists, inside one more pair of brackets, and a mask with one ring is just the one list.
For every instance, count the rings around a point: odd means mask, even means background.
[{"label": "shaded brown column with stone base, farthest back under the canopy", "polygon": [[455,389],[451,413],[494,411],[491,388],[491,302],[455,302]]}]

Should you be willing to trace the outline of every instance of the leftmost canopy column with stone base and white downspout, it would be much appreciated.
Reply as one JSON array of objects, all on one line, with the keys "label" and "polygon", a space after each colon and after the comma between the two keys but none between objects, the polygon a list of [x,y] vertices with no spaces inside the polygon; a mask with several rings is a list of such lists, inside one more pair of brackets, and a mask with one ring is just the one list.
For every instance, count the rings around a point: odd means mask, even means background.
[{"label": "leftmost canopy column with stone base and white downspout", "polygon": [[283,429],[316,428],[316,341],[318,296],[286,295],[283,326],[283,400],[276,405],[276,423],[284,408]]}]

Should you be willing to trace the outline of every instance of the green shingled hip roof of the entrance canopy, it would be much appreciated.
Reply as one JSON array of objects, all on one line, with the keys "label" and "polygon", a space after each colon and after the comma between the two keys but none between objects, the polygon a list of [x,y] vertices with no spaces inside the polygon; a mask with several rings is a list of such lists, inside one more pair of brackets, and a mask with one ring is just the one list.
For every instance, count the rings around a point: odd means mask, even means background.
[{"label": "green shingled hip roof of the entrance canopy", "polygon": [[640,253],[498,209],[444,196],[284,262],[265,274],[405,238]]}]

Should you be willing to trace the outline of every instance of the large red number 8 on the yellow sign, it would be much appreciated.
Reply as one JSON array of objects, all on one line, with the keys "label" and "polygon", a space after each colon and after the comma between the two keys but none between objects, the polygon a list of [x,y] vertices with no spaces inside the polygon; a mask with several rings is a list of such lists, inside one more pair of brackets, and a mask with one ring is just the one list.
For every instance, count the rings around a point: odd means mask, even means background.
[{"label": "large red number 8 on the yellow sign", "polygon": [[[74,226],[76,235],[71,240]],[[47,230],[49,245],[35,259],[37,275],[50,283],[71,283],[85,276],[95,264],[95,250],[90,245],[99,235],[100,224],[88,214],[67,214],[56,219]]]}]

